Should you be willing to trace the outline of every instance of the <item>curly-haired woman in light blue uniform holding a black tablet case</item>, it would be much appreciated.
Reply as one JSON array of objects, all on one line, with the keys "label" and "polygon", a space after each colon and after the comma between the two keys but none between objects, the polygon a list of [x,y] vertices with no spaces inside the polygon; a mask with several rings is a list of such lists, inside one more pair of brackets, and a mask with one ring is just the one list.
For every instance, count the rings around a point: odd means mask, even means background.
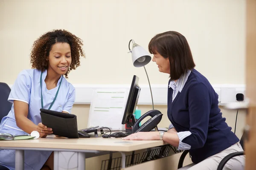
[{"label": "curly-haired woman in light blue uniform holding a black tablet case", "polygon": [[[71,113],[75,88],[67,81],[71,70],[84,57],[82,40],[65,30],[54,30],[41,35],[33,44],[30,56],[32,69],[17,76],[9,102],[12,109],[0,123],[0,133],[30,134],[33,130],[44,138],[51,127],[41,123],[40,109]],[[24,169],[53,169],[51,151],[25,151]],[[15,150],[0,150],[0,164],[15,170]]]}]

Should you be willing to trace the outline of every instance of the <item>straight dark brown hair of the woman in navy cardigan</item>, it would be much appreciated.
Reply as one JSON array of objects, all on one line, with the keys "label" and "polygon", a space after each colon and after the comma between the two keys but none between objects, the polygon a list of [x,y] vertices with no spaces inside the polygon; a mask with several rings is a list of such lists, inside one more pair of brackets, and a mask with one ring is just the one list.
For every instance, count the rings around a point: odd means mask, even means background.
[{"label": "straight dark brown hair of the woman in navy cardigan", "polygon": [[176,31],[155,35],[148,44],[148,51],[169,58],[171,80],[179,79],[182,74],[195,67],[186,38]]}]

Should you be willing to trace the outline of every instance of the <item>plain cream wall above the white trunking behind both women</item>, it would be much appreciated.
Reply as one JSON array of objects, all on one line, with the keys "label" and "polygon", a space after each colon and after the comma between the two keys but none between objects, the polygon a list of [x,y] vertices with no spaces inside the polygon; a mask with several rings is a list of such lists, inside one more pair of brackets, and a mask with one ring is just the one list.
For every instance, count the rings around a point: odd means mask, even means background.
[{"label": "plain cream wall above the white trunking behind both women", "polygon": [[[128,42],[147,49],[155,34],[174,30],[212,84],[244,84],[245,0],[0,0],[0,81],[12,84],[30,68],[33,42],[58,28],[84,40],[86,59],[70,73],[71,83],[130,84],[136,74],[147,84]],[[146,68],[152,84],[167,83],[154,62]]]}]

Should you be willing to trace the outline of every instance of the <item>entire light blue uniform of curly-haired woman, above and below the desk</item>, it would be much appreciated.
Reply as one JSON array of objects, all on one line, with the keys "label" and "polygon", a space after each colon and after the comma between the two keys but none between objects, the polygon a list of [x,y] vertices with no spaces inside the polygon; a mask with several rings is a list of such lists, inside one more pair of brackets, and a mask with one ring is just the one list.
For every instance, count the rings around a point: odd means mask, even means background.
[{"label": "entire light blue uniform of curly-haired woman, above and below the desk", "polygon": [[[61,79],[55,88],[48,90],[44,79],[47,71],[42,75],[42,95],[44,99],[44,109],[48,109],[51,105],[55,94],[58,90]],[[18,75],[12,86],[8,101],[13,102],[19,100],[29,104],[28,119],[35,125],[41,122],[41,88],[40,88],[41,71],[37,69],[23,70]],[[76,92],[73,85],[71,85],[63,77],[58,96],[52,105],[53,111],[66,111],[71,113],[71,108],[75,102]],[[12,135],[27,134],[16,125],[14,106],[7,116],[3,117],[0,123],[0,133],[11,133]],[[35,139],[36,140],[36,139]],[[52,151],[38,151],[25,150],[24,152],[24,169],[25,170],[39,170],[49,158]],[[15,150],[0,150],[0,164],[8,167],[10,170],[15,170]]]}]

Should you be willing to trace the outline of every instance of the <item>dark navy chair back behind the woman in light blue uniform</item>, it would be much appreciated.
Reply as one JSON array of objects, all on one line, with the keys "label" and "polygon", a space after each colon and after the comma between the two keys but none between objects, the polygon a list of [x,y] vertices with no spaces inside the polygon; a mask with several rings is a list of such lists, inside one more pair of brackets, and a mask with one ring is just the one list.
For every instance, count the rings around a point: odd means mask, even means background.
[{"label": "dark navy chair back behind the woman in light blue uniform", "polygon": [[4,82],[0,82],[0,122],[12,108],[12,103],[8,102],[11,88]]}]

